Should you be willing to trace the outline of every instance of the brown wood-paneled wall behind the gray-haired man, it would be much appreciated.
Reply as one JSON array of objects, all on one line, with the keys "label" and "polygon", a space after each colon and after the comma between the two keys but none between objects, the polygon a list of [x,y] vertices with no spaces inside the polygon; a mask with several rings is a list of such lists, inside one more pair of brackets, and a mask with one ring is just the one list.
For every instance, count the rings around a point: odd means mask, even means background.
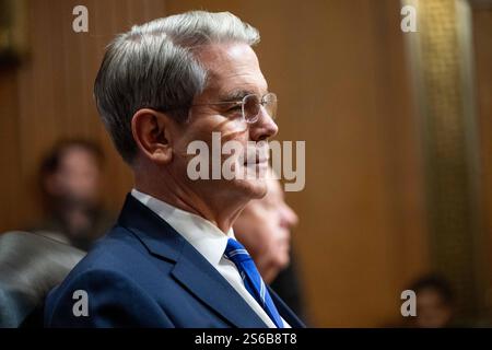
[{"label": "brown wood-paneled wall behind the gray-haired man", "polygon": [[[90,32],[71,31],[85,4]],[[229,10],[260,30],[257,51],[279,95],[280,140],[306,141],[306,187],[288,195],[317,326],[377,326],[399,315],[427,267],[422,164],[399,30],[399,1],[31,1],[31,58],[0,71],[0,229],[36,217],[40,155],[59,137],[99,140],[105,198],[131,186],[97,119],[92,83],[117,32],[189,9]]]}]

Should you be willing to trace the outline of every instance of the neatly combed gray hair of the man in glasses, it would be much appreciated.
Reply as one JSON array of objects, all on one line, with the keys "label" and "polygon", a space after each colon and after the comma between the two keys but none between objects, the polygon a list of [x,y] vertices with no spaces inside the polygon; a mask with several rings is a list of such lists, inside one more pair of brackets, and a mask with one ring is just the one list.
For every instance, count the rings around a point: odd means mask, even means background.
[{"label": "neatly combed gray hair of the man in glasses", "polygon": [[124,160],[131,164],[137,154],[131,132],[137,110],[148,107],[186,120],[194,97],[207,83],[207,70],[194,55],[200,46],[258,42],[258,31],[229,12],[186,12],[118,35],[106,49],[94,96]]}]

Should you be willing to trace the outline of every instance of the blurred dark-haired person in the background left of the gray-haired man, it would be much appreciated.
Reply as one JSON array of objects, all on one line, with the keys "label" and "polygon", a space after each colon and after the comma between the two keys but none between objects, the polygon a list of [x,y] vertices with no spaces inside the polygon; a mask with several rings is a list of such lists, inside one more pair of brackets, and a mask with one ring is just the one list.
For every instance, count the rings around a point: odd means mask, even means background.
[{"label": "blurred dark-haired person in the background left of the gray-haired man", "polygon": [[45,218],[32,230],[87,250],[114,223],[99,196],[104,155],[81,139],[59,141],[39,172]]}]

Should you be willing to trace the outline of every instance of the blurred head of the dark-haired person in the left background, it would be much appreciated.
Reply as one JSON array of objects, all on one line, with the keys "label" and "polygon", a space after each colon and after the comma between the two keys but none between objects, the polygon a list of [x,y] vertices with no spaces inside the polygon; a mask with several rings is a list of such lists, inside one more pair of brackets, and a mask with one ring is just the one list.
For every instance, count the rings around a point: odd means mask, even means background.
[{"label": "blurred head of the dark-haired person in the left background", "polygon": [[42,186],[50,201],[63,206],[92,207],[101,187],[101,149],[85,140],[58,142],[43,161]]}]

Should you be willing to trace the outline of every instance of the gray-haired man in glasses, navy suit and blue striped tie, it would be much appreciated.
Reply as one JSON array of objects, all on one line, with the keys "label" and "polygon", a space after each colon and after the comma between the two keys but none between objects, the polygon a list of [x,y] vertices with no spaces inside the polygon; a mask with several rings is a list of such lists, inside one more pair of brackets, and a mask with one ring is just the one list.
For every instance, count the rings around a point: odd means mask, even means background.
[{"label": "gray-haired man in glasses, navy suit and blue striped tie", "polygon": [[277,100],[251,49],[258,42],[231,13],[197,11],[133,26],[109,45],[94,95],[134,188],[116,225],[48,295],[47,326],[303,326],[232,230],[265,196],[265,176],[195,178],[188,168],[189,144],[213,150],[220,135],[243,145],[231,168],[265,174],[268,149],[249,144],[277,133]]}]

